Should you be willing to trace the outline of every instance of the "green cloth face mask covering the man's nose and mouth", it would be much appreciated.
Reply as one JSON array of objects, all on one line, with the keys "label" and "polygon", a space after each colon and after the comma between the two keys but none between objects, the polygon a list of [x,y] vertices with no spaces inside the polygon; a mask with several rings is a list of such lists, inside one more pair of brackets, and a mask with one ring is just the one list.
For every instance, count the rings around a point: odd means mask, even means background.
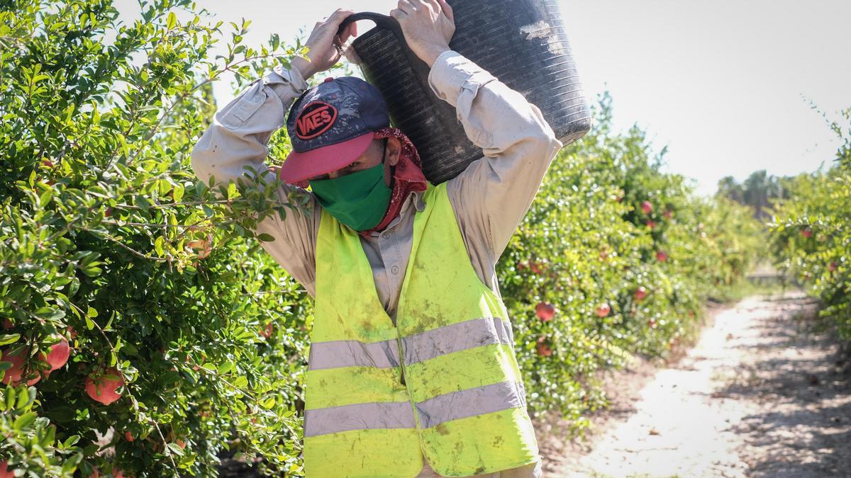
[{"label": "green cloth face mask covering the man's nose and mouth", "polygon": [[308,182],[319,205],[354,230],[374,228],[390,205],[391,189],[384,182],[384,162],[339,178]]}]

